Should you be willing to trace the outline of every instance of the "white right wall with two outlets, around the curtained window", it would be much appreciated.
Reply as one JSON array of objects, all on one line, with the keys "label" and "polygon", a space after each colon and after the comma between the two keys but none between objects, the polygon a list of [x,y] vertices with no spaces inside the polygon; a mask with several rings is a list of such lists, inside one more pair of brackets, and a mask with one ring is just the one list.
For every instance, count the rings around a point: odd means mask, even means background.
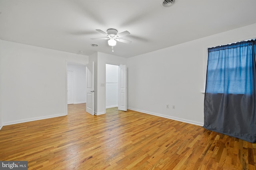
[{"label": "white right wall with two outlets, around the curtained window", "polygon": [[203,125],[207,48],[256,38],[255,30],[253,24],[128,58],[128,109]]}]

